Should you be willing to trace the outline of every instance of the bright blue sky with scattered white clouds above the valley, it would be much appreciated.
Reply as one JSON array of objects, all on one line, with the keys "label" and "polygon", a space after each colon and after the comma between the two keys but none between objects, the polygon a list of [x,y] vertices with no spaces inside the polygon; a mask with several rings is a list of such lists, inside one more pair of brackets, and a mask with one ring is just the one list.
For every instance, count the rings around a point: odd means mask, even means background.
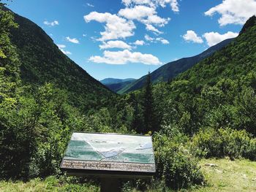
[{"label": "bright blue sky with scattered white clouds above the valley", "polygon": [[237,37],[256,0],[14,0],[92,77],[140,78]]}]

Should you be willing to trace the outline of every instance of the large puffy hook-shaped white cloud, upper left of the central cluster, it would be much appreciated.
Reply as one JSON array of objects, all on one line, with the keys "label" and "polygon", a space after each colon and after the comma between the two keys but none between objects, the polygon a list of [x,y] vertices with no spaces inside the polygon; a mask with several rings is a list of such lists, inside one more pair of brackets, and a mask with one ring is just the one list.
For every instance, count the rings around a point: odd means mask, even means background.
[{"label": "large puffy hook-shaped white cloud, upper left of the central cluster", "polygon": [[99,23],[106,23],[105,31],[100,32],[102,37],[98,39],[99,41],[132,37],[134,35],[133,30],[136,28],[131,20],[127,21],[126,19],[121,18],[118,15],[112,15],[109,12],[91,12],[89,15],[84,16],[84,20],[86,20],[86,23],[89,23],[91,20],[95,20]]}]

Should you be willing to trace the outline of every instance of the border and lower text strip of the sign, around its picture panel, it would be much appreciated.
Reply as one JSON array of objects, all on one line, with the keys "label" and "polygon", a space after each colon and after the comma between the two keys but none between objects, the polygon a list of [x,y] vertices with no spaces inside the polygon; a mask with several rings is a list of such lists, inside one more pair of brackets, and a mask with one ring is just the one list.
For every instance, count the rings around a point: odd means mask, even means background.
[{"label": "border and lower text strip of the sign, around its picture panel", "polygon": [[[61,161],[61,170],[67,172],[68,175],[72,176],[96,176],[96,177],[111,177],[111,178],[126,178],[126,179],[135,179],[135,178],[151,178],[156,173],[156,165],[154,160],[154,147],[151,136],[144,136],[138,134],[113,134],[113,133],[97,133],[97,132],[82,132],[74,131],[73,134],[102,134],[102,135],[115,135],[118,136],[127,136],[127,137],[150,137],[151,150],[153,155],[153,164],[143,164],[138,162],[121,162],[121,161],[91,161],[91,160],[81,160],[81,159],[65,159],[67,154],[67,149],[65,150],[64,158]],[[68,146],[72,142],[72,137],[69,139]],[[125,167],[118,169],[118,166],[129,166],[129,169]],[[108,167],[107,167],[108,166]],[[116,169],[114,168],[116,166]],[[107,167],[107,168],[106,168]],[[139,169],[143,167],[144,170]],[[108,169],[110,168],[110,169]],[[138,168],[138,169],[137,169]]]}]

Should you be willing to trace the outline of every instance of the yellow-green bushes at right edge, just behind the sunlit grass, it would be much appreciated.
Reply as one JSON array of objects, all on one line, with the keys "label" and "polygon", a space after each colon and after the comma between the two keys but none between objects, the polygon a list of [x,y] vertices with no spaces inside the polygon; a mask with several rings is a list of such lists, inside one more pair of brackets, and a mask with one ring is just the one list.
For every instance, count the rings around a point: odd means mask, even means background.
[{"label": "yellow-green bushes at right edge, just behind the sunlit grass", "polygon": [[199,131],[192,139],[192,146],[197,150],[197,155],[205,158],[222,158],[225,155],[233,158],[256,159],[256,139],[252,138],[245,130],[232,128],[208,128]]}]

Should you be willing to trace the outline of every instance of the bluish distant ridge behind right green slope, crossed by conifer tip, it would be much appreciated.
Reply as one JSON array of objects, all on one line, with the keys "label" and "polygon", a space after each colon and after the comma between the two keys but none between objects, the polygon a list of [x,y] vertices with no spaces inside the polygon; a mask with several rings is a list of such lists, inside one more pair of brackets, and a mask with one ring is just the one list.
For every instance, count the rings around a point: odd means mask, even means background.
[{"label": "bluish distant ridge behind right green slope, crossed by conifer tip", "polygon": [[[151,81],[153,83],[167,82],[168,80],[176,77],[178,74],[187,71],[187,69],[190,69],[192,66],[202,61],[204,58],[207,58],[210,55],[214,54],[217,50],[221,50],[232,41],[233,39],[226,39],[225,41],[208,48],[208,50],[200,53],[199,55],[195,55],[189,58],[181,58],[177,61],[167,63],[151,73]],[[136,80],[135,82],[132,82],[129,85],[125,86],[124,88],[119,90],[118,93],[128,93],[130,91],[135,91],[143,88],[143,86],[145,85],[145,80],[146,75],[141,77],[139,80]]]}]

